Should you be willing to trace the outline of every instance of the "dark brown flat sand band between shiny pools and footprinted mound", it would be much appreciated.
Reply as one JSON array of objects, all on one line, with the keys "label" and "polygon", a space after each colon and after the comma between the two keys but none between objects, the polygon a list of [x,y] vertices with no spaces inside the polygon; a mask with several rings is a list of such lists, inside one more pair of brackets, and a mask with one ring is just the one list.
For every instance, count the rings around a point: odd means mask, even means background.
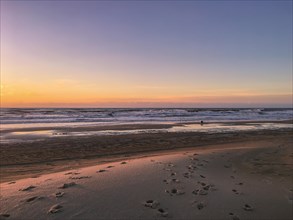
[{"label": "dark brown flat sand band between shiny pools and footprinted mound", "polygon": [[1,145],[0,182],[36,177],[124,158],[137,158],[211,145],[290,139],[291,129],[228,133],[154,133],[56,137]]}]

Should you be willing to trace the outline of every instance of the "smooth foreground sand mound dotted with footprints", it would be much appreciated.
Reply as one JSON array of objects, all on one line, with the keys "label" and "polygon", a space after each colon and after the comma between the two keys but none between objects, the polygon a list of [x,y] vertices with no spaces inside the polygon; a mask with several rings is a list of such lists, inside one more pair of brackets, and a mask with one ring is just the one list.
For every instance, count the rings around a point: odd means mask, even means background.
[{"label": "smooth foreground sand mound dotted with footprints", "polygon": [[292,133],[274,134],[3,182],[1,219],[292,219]]}]

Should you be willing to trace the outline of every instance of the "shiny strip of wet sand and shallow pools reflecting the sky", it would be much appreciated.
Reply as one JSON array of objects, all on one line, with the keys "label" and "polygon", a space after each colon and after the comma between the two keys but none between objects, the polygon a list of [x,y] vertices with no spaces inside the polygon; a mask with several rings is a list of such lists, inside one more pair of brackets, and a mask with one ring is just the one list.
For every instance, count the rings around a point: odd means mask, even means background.
[{"label": "shiny strip of wet sand and shallow pools reflecting the sky", "polygon": [[293,128],[291,123],[196,123],[196,124],[135,124],[132,126],[95,126],[95,127],[68,127],[58,129],[45,128],[39,130],[36,128],[2,130],[1,142],[23,142],[34,141],[45,138],[60,137],[60,136],[107,136],[107,135],[131,135],[131,134],[153,134],[153,133],[172,133],[172,132],[202,132],[202,133],[225,133],[253,130],[275,130],[280,128]]}]

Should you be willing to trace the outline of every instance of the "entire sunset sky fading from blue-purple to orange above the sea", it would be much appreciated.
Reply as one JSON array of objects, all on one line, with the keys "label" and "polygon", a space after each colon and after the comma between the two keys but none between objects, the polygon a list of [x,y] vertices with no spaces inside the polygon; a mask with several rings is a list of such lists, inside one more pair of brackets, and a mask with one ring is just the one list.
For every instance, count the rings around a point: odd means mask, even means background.
[{"label": "entire sunset sky fading from blue-purple to orange above the sea", "polygon": [[292,1],[1,1],[1,107],[291,107]]}]

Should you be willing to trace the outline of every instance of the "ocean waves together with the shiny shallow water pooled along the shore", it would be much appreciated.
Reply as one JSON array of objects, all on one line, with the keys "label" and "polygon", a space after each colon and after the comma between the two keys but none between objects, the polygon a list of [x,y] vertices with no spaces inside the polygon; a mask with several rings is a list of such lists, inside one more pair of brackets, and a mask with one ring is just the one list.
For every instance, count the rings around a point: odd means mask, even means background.
[{"label": "ocean waves together with the shiny shallow water pooled along the shore", "polygon": [[[64,136],[292,129],[291,123],[279,123],[292,119],[293,110],[288,108],[2,108],[0,142],[35,141]],[[204,122],[204,126],[200,121]],[[227,123],[222,123],[240,121],[249,123],[229,123],[228,126]],[[126,129],[107,127],[129,124],[137,126]],[[151,124],[151,127],[140,127],[139,124]],[[168,127],[152,127],[152,124],[168,124]],[[96,129],[97,126],[106,127]],[[70,131],[69,128],[74,130]]]}]

